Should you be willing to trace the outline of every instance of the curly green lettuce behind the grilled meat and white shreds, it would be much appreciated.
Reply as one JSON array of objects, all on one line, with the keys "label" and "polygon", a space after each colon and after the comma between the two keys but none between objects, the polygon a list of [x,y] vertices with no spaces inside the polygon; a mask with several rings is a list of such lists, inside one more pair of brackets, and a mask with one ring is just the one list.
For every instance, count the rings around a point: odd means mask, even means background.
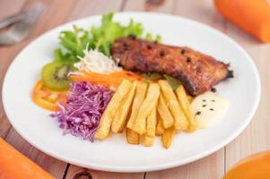
[{"label": "curly green lettuce behind the grilled meat and white shreds", "polygon": [[[117,21],[113,21],[114,13],[102,15],[100,27],[92,27],[91,30],[83,30],[74,25],[73,30],[62,31],[59,40],[61,47],[54,52],[56,60],[79,60],[78,56],[83,56],[83,50],[88,44],[88,50],[98,48],[104,55],[110,55],[110,47],[116,38],[135,35],[142,38],[144,28],[142,23],[132,19],[125,26]],[[146,33],[146,39],[161,41],[161,36],[152,38],[151,33]]]}]

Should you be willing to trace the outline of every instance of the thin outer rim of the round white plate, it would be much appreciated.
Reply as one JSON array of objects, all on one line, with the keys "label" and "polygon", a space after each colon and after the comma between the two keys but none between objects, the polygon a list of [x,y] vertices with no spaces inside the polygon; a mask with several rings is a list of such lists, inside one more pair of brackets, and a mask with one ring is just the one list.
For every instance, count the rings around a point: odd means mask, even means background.
[{"label": "thin outer rim of the round white plate", "polygon": [[260,97],[261,97],[261,80],[260,80],[260,77],[259,77],[259,72],[257,71],[256,64],[253,62],[253,59],[251,58],[251,56],[248,55],[248,52],[243,47],[241,47],[240,44],[238,44],[235,40],[230,38],[228,35],[222,33],[222,31],[216,30],[213,27],[208,26],[203,22],[195,21],[195,20],[188,19],[188,18],[185,18],[185,17],[182,17],[182,16],[178,16],[178,15],[173,15],[173,14],[168,14],[168,13],[144,13],[144,12],[122,12],[122,13],[115,13],[115,14],[116,15],[128,14],[128,15],[133,15],[133,16],[135,16],[136,14],[153,15],[153,16],[167,16],[169,18],[179,19],[181,21],[187,21],[187,22],[196,24],[198,26],[202,26],[202,27],[206,28],[207,30],[210,30],[211,32],[213,32],[215,34],[217,34],[219,36],[222,36],[222,38],[225,38],[226,40],[228,40],[232,44],[234,44],[235,47],[237,47],[238,50],[240,50],[240,52],[243,55],[245,55],[246,58],[248,59],[248,63],[251,64],[253,72],[255,72],[255,79],[257,81],[257,86],[256,86],[257,94],[256,94],[256,98],[255,98],[256,101],[252,105],[252,110],[250,110],[249,113],[248,113],[248,119],[246,119],[244,121],[244,123],[242,125],[240,125],[240,129],[238,131],[233,132],[228,138],[226,138],[226,140],[216,144],[212,149],[208,149],[203,153],[194,155],[194,156],[192,156],[190,158],[186,158],[186,159],[183,159],[183,160],[177,160],[177,161],[173,161],[173,162],[168,162],[168,163],[159,164],[159,165],[151,165],[151,166],[135,166],[135,167],[133,167],[133,166],[125,166],[124,167],[124,166],[107,166],[107,165],[103,165],[103,164],[102,165],[95,165],[93,163],[91,163],[91,165],[89,165],[89,163],[86,164],[86,163],[82,163],[82,162],[77,162],[74,158],[68,158],[66,156],[65,157],[61,156],[61,154],[60,155],[55,154],[54,152],[49,151],[46,148],[44,148],[42,146],[38,146],[35,143],[31,142],[30,139],[27,136],[25,136],[20,130],[17,129],[16,125],[13,124],[13,120],[10,120],[10,113],[7,112],[8,110],[6,110],[6,106],[5,106],[5,103],[6,103],[5,100],[6,99],[4,97],[4,93],[5,93],[4,91],[6,89],[6,87],[5,87],[6,86],[6,81],[7,81],[7,78],[9,76],[9,73],[11,71],[10,69],[13,66],[13,63],[15,62],[17,57],[23,53],[23,51],[25,50],[26,47],[29,47],[32,43],[39,40],[39,38],[42,38],[43,36],[50,33],[51,31],[57,30],[58,28],[61,28],[62,26],[72,25],[72,24],[76,23],[76,21],[87,21],[87,20],[94,19],[94,18],[100,18],[101,15],[102,15],[102,14],[97,14],[97,15],[91,15],[91,16],[87,16],[87,17],[84,17],[84,18],[76,19],[74,21],[67,21],[67,22],[65,22],[63,24],[59,24],[57,27],[55,27],[55,28],[53,28],[51,30],[48,30],[48,31],[40,34],[39,37],[34,38],[33,40],[30,41],[30,43],[27,46],[23,47],[22,50],[17,55],[15,55],[15,57],[13,58],[13,62],[9,65],[9,67],[7,69],[7,72],[4,75],[4,81],[3,81],[3,86],[2,86],[2,101],[3,101],[4,112],[5,112],[6,116],[7,116],[7,119],[12,124],[13,128],[15,129],[15,131],[18,132],[25,141],[29,142],[30,145],[34,146],[36,149],[39,149],[40,151],[48,154],[49,156],[51,156],[53,158],[57,158],[57,159],[59,159],[61,161],[65,161],[67,163],[74,164],[76,166],[83,166],[83,167],[87,167],[87,168],[91,168],[91,169],[95,169],[95,170],[108,171],[108,172],[136,173],[136,172],[158,171],[158,170],[162,170],[162,169],[168,169],[168,168],[171,168],[171,167],[182,166],[182,165],[186,165],[188,163],[191,163],[193,161],[199,160],[201,158],[205,158],[205,157],[213,154],[217,150],[222,149],[228,143],[233,141],[237,136],[239,136],[241,132],[244,131],[244,129],[251,122],[251,120],[253,119],[253,116],[255,115],[255,113],[257,111],[257,107],[258,107]]}]

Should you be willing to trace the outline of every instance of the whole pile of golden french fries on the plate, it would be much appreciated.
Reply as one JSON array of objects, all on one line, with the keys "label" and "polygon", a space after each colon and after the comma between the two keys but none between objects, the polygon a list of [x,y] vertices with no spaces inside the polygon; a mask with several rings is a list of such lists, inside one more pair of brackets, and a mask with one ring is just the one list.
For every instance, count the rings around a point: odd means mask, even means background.
[{"label": "whole pile of golden french fries on the plate", "polygon": [[105,140],[110,132],[126,130],[126,141],[152,146],[161,136],[163,147],[170,148],[177,132],[196,130],[196,115],[183,86],[172,90],[166,80],[155,82],[127,81],[118,86],[100,119],[95,138]]}]

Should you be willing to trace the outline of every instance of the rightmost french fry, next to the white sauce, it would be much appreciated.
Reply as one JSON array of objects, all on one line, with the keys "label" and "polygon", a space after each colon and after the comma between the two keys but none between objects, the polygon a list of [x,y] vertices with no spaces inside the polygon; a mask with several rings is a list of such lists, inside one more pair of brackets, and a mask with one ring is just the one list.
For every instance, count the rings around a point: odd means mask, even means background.
[{"label": "rightmost french fry, next to the white sauce", "polygon": [[190,107],[189,100],[187,98],[186,91],[182,85],[179,86],[179,88],[175,91],[176,95],[179,99],[180,107],[182,108],[184,114],[187,117],[187,121],[189,122],[189,126],[187,131],[192,132],[196,130],[196,115],[192,111]]}]

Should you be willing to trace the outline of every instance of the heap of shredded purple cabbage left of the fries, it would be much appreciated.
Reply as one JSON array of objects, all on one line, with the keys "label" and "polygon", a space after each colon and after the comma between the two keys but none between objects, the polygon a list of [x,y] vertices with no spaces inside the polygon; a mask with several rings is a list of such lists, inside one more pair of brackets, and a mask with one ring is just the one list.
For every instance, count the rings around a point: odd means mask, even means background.
[{"label": "heap of shredded purple cabbage left of the fries", "polygon": [[73,82],[65,107],[59,105],[60,111],[51,116],[57,118],[64,135],[71,133],[92,142],[113,93],[101,85]]}]

